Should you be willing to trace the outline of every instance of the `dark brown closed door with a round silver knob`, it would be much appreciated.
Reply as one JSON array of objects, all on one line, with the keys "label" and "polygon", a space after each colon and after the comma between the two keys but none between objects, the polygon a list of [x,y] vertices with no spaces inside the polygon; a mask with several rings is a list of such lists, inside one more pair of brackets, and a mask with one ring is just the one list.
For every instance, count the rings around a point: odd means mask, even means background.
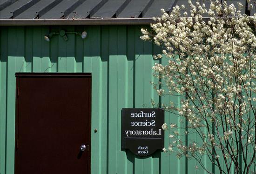
[{"label": "dark brown closed door with a round silver knob", "polygon": [[16,88],[15,174],[89,174],[91,75],[16,74]]}]

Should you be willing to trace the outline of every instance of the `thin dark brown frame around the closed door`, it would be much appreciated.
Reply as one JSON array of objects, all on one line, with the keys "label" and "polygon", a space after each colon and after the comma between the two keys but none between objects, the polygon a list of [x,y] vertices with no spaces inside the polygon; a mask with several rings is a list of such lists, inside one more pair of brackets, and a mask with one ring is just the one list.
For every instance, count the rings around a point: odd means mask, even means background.
[{"label": "thin dark brown frame around the closed door", "polygon": [[88,111],[88,130],[90,130],[88,134],[89,139],[89,152],[88,152],[88,174],[91,173],[91,126],[92,126],[92,74],[91,73],[15,73],[15,81],[16,81],[16,94],[15,94],[15,146],[14,146],[14,174],[18,174],[18,128],[19,128],[19,79],[20,77],[89,77],[91,79],[90,83],[90,93],[89,98],[89,111]]}]

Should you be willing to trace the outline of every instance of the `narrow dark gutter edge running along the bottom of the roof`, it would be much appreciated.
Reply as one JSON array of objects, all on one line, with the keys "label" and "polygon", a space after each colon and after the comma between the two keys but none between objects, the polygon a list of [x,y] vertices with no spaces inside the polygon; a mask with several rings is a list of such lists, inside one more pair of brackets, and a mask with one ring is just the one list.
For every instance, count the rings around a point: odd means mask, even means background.
[{"label": "narrow dark gutter edge running along the bottom of the roof", "polygon": [[110,19],[0,19],[0,26],[59,26],[59,25],[149,25],[153,18]]}]

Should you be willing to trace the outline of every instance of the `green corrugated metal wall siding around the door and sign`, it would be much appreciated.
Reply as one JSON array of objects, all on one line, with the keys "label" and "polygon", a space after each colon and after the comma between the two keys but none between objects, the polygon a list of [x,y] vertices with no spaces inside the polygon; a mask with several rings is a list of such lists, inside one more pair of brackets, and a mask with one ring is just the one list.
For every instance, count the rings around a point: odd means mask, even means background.
[{"label": "green corrugated metal wall siding around the door and sign", "polygon": [[[177,160],[175,154],[156,152],[139,158],[121,151],[121,108],[151,107],[156,102],[180,97],[159,98],[150,85],[151,67],[159,60],[152,54],[160,49],[143,42],[142,26],[88,27],[1,27],[0,33],[0,174],[14,173],[14,124],[16,72],[92,73],[92,174],[203,174],[195,162]],[[145,27],[145,26],[144,26]],[[87,31],[88,37],[68,34],[68,41],[49,31]],[[167,63],[167,60],[162,60]],[[74,89],[75,90],[75,87]],[[169,113],[166,122],[180,121]],[[94,129],[98,132],[94,133]],[[195,138],[195,137],[194,137]],[[169,142],[165,134],[165,146]],[[211,165],[205,159],[205,163]]]}]

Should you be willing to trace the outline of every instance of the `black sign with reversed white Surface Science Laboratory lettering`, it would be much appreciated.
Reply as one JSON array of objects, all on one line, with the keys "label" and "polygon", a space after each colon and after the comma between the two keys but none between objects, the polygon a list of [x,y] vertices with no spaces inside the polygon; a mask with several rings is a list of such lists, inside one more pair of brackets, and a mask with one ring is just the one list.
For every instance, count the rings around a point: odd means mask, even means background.
[{"label": "black sign with reversed white Surface Science Laboratory lettering", "polygon": [[153,108],[122,109],[122,149],[148,156],[164,147],[164,110]]}]

